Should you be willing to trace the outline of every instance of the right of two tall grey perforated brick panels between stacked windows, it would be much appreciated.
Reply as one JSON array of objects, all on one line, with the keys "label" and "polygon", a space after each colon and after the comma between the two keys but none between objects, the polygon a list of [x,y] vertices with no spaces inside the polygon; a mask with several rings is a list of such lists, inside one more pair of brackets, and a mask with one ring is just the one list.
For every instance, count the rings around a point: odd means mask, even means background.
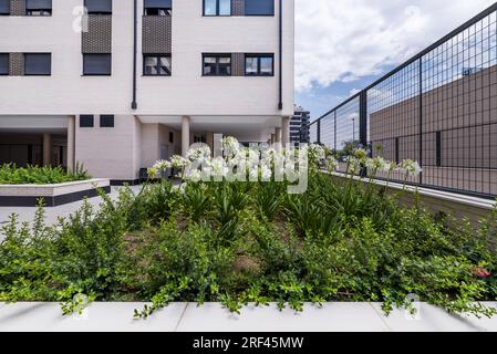
[{"label": "right of two tall grey perforated brick panels between stacked windows", "polygon": [[170,15],[144,15],[142,24],[144,54],[168,54],[172,48]]}]

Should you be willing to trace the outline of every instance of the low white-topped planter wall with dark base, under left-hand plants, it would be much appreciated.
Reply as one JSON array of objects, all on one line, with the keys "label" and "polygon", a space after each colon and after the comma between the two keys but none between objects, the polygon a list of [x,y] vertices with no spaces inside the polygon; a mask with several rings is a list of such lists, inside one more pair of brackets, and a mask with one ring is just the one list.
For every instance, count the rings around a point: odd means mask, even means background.
[{"label": "low white-topped planter wall with dark base, under left-hand plants", "polygon": [[43,198],[46,207],[55,207],[95,197],[96,189],[111,191],[111,181],[104,178],[54,185],[0,185],[1,207],[34,207]]}]

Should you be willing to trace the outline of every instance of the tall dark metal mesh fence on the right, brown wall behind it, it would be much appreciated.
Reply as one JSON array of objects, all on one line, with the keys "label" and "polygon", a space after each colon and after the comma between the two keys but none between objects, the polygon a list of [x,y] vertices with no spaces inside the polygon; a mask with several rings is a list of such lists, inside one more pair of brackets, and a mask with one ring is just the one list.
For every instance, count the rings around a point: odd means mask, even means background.
[{"label": "tall dark metal mesh fence on the right, brown wall behind it", "polygon": [[[334,148],[339,156],[363,145],[372,156],[418,162],[423,173],[410,184],[496,197],[497,4],[310,128],[315,134],[311,142]],[[398,181],[404,177],[390,175]]]}]

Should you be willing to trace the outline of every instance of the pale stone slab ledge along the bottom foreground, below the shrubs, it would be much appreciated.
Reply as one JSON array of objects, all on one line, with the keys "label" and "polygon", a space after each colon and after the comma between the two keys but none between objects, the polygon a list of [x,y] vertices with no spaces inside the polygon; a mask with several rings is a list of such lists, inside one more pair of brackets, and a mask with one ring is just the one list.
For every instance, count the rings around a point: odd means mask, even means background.
[{"label": "pale stone slab ledge along the bottom foreground, below the shrubs", "polygon": [[[488,303],[497,306],[497,303]],[[379,303],[306,305],[302,313],[248,306],[241,315],[218,303],[173,303],[147,320],[133,320],[143,303],[93,303],[80,315],[63,316],[58,303],[0,303],[0,332],[497,332],[497,317],[462,317],[420,304],[416,317],[404,310],[385,316]]]}]

